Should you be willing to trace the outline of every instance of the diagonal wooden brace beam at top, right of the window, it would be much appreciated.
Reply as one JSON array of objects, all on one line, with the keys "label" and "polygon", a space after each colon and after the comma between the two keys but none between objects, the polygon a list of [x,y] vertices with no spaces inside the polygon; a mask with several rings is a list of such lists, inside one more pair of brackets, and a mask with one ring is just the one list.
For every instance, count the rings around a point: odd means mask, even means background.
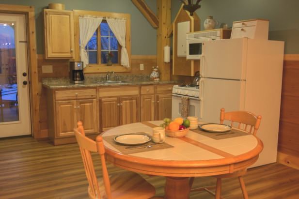
[{"label": "diagonal wooden brace beam at top, right of the window", "polygon": [[139,11],[144,15],[148,22],[152,25],[153,28],[159,27],[159,19],[153,13],[153,11],[146,5],[144,0],[132,0],[134,5],[139,9]]}]

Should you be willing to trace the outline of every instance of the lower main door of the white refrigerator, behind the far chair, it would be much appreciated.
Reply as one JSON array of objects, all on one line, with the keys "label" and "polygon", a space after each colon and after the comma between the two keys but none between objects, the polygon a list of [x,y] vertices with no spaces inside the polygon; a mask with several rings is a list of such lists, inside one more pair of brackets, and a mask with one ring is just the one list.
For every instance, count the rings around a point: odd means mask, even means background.
[{"label": "lower main door of the white refrigerator, behind the far chair", "polygon": [[220,122],[220,108],[225,111],[244,109],[245,81],[201,78],[200,121]]}]

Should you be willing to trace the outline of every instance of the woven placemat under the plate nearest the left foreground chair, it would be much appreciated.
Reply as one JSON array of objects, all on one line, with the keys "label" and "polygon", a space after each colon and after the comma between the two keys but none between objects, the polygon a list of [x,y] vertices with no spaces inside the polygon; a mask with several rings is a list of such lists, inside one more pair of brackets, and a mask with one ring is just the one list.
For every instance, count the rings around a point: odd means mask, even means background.
[{"label": "woven placemat under the plate nearest the left foreground chair", "polygon": [[[146,134],[146,133],[138,132],[136,134]],[[146,135],[148,135],[148,134],[146,134]],[[162,144],[157,144],[157,143],[154,143],[153,141],[149,141],[149,142],[146,142],[141,145],[132,145],[132,146],[123,145],[123,144],[119,144],[114,141],[115,136],[117,136],[117,135],[105,136],[105,137],[103,137],[103,139],[123,154],[148,152],[148,151],[154,151],[154,150],[158,150],[158,149],[167,149],[167,148],[173,147],[172,145],[167,144],[165,142]],[[151,147],[148,147],[148,146],[151,146]]]}]

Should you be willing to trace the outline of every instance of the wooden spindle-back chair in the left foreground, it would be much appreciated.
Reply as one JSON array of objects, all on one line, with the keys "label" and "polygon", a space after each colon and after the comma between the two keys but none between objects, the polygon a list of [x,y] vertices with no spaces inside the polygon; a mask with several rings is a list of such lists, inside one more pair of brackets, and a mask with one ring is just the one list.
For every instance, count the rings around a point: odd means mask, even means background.
[{"label": "wooden spindle-back chair in the left foreground", "polygon": [[[124,171],[109,176],[104,156],[103,138],[97,136],[96,141],[87,138],[82,122],[78,122],[77,125],[78,127],[74,131],[89,183],[88,195],[90,199],[149,199],[155,195],[155,187],[137,173]],[[97,152],[100,155],[102,179],[96,178],[91,152]]]}]

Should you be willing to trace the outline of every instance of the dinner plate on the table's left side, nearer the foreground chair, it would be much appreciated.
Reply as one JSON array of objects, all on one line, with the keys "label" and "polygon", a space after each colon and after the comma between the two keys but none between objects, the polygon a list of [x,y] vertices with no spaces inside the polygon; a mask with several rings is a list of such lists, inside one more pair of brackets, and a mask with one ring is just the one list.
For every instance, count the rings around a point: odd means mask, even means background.
[{"label": "dinner plate on the table's left side, nearer the foreground chair", "polygon": [[116,136],[114,141],[124,145],[138,145],[149,142],[152,138],[146,134],[125,134]]}]

